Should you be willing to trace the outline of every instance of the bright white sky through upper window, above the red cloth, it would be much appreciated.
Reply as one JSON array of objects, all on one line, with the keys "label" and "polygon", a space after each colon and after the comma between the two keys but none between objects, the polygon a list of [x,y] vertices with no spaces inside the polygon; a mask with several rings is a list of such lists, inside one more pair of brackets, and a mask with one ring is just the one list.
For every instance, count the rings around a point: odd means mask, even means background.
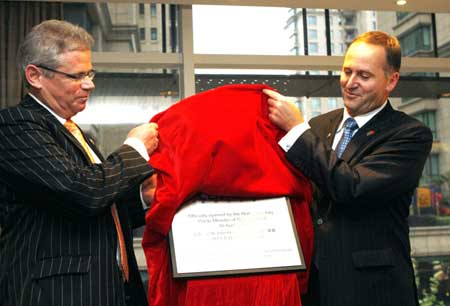
[{"label": "bright white sky through upper window, above the red cloth", "polygon": [[193,6],[194,53],[288,55],[289,9]]}]

